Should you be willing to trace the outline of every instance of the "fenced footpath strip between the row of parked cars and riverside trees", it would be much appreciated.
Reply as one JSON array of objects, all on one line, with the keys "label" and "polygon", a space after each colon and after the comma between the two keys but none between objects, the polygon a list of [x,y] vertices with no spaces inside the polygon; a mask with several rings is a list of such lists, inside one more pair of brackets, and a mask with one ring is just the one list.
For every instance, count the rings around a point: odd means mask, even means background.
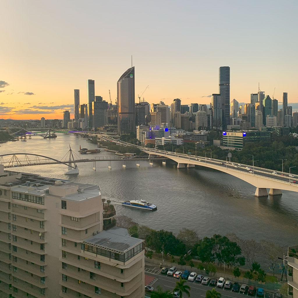
[{"label": "fenced footpath strip between the row of parked cars and riverside trees", "polygon": [[[197,260],[194,260],[194,261],[197,261]],[[206,270],[200,270],[196,267],[190,267],[187,265],[181,266],[181,265],[178,265],[177,263],[172,263],[172,262],[167,262],[167,261],[164,261],[161,263],[161,260],[157,260],[154,258],[150,259],[150,258],[145,257],[145,267],[146,267],[146,265],[155,266],[157,268],[162,268],[162,267],[170,268],[172,266],[175,266],[177,268],[177,271],[183,272],[184,270],[189,270],[190,272],[196,272],[197,274],[209,276],[210,278],[214,277],[216,279],[218,279],[219,277],[224,277],[225,280],[230,280],[233,283],[238,282],[238,283],[240,283],[240,285],[245,283],[249,286],[253,285],[256,288],[264,288],[265,291],[277,292],[278,289],[283,285],[283,283],[280,283],[280,282],[278,282],[278,283],[268,283],[268,282],[260,283],[260,282],[249,280],[246,278],[237,278],[231,274],[226,274],[225,272],[224,273],[222,273],[222,272],[211,273]],[[241,268],[240,268],[240,271],[243,272],[244,270],[241,270]],[[145,274],[146,274],[146,269],[145,269]],[[284,277],[284,282],[285,282],[285,277]]]}]

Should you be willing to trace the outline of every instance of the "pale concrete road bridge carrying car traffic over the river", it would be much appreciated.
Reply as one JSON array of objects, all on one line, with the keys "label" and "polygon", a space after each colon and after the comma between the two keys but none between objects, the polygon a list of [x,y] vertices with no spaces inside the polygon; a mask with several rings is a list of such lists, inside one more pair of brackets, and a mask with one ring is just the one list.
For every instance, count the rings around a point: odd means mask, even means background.
[{"label": "pale concrete road bridge carrying car traffic over the river", "polygon": [[[234,164],[231,162],[222,161],[220,159],[212,159],[201,156],[187,155],[183,153],[174,153],[165,150],[150,149],[115,140],[112,137],[108,136],[99,136],[99,138],[105,141],[116,142],[119,145],[138,147],[141,151],[148,153],[149,156],[158,155],[163,156],[164,158],[172,159],[178,163],[178,169],[185,168],[185,166],[195,167],[195,165],[198,165],[228,173],[232,176],[248,182],[249,184],[254,185],[257,188],[254,195],[257,197],[268,196],[267,188],[270,189],[269,195],[281,195],[282,190],[298,192],[298,177],[289,173],[277,173],[266,168],[255,166],[252,167],[246,164]],[[165,164],[165,162],[163,162],[163,164]],[[295,179],[297,179],[297,184]]]}]

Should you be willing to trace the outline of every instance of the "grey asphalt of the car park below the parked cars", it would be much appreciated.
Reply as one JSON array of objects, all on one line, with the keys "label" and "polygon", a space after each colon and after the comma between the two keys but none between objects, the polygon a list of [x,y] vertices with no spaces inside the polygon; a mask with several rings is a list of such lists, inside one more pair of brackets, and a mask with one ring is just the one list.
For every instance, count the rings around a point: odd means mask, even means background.
[{"label": "grey asphalt of the car park below the parked cars", "polygon": [[[151,286],[153,286],[154,289],[156,289],[156,287],[158,285],[160,285],[164,290],[173,291],[173,288],[176,285],[176,281],[178,281],[178,279],[173,276],[169,276],[167,274],[162,274],[160,272],[160,268],[146,265],[146,264],[145,264],[145,274],[155,277],[154,284],[151,284]],[[212,278],[212,277],[210,277],[210,278]],[[199,283],[197,281],[193,281],[193,282],[187,281],[187,285],[190,286],[190,297],[205,297],[206,291],[212,290],[212,288],[216,288],[216,291],[220,292],[222,297],[240,298],[240,295],[255,297],[255,298],[258,297],[256,294],[254,296],[250,296],[250,295],[248,295],[248,293],[243,294],[243,293],[240,293],[240,291],[234,292],[234,291],[232,291],[232,289],[219,288],[219,287],[212,286],[210,284],[202,285],[201,283]],[[240,283],[240,286],[241,286],[241,283]],[[184,296],[185,296],[185,294],[184,294]],[[265,298],[275,298],[275,294],[272,292],[265,291],[264,297]]]}]

